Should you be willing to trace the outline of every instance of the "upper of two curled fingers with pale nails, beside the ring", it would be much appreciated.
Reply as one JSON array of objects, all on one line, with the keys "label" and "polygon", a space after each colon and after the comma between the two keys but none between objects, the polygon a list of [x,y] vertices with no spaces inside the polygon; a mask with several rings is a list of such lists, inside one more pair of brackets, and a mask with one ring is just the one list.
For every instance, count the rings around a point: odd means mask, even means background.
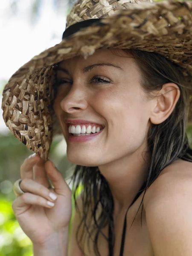
[{"label": "upper of two curled fingers with pale nails, beside the ring", "polygon": [[57,199],[57,196],[50,192],[49,189],[31,179],[21,180],[20,188],[24,192],[30,192],[32,194],[39,195],[49,201],[55,201]]}]

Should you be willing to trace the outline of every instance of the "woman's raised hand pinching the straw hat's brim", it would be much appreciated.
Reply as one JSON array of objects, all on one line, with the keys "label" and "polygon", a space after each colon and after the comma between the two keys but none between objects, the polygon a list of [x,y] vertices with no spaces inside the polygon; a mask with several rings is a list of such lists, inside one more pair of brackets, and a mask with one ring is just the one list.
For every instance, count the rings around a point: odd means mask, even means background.
[{"label": "woman's raised hand pinching the straw hat's brim", "polygon": [[[68,229],[72,213],[71,190],[52,162],[45,163],[38,155],[24,161],[20,176],[20,188],[26,193],[17,196],[12,209],[32,243],[46,244],[55,234]],[[50,198],[50,192],[57,196],[55,200]],[[51,206],[48,201],[55,205]]]}]

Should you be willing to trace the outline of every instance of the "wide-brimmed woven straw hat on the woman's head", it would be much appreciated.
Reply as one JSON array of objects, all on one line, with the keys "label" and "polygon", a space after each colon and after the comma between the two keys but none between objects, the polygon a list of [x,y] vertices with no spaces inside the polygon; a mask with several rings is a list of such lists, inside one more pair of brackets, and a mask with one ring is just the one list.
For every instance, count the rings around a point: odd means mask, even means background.
[{"label": "wide-brimmed woven straw hat on the woman's head", "polygon": [[3,119],[15,137],[47,160],[53,135],[62,133],[52,108],[55,64],[111,47],[157,52],[179,64],[190,81],[192,2],[77,1],[61,43],[20,67],[3,90]]}]

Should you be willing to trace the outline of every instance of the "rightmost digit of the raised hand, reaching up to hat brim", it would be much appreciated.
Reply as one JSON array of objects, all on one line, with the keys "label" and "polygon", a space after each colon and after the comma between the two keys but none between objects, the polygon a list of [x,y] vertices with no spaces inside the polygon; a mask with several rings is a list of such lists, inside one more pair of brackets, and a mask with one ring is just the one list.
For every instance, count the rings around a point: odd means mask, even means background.
[{"label": "rightmost digit of the raised hand, reaching up to hat brim", "polygon": [[54,186],[55,192],[58,193],[58,195],[71,196],[70,187],[67,185],[64,177],[62,176],[61,172],[59,172],[59,170],[55,167],[54,163],[48,160],[45,163],[45,169],[47,172],[47,176],[49,177],[52,185]]}]

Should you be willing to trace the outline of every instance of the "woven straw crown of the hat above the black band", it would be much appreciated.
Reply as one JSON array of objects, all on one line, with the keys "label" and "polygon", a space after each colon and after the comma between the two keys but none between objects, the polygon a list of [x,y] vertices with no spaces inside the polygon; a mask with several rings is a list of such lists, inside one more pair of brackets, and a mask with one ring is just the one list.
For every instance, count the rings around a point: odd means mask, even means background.
[{"label": "woven straw crown of the hat above the black band", "polygon": [[153,3],[153,0],[78,0],[67,15],[66,29],[78,22],[96,18],[106,18],[121,9],[129,9],[133,4]]}]

